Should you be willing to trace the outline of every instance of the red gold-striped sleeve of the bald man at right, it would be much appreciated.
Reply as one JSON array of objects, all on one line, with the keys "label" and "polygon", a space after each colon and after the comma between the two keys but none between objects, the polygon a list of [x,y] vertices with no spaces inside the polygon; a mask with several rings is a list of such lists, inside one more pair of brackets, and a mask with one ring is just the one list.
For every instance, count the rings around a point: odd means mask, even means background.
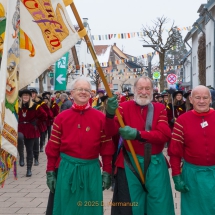
[{"label": "red gold-striped sleeve of the bald man at right", "polygon": [[172,139],[168,148],[168,155],[170,156],[170,165],[172,168],[172,176],[181,174],[181,159],[183,157],[184,147],[184,132],[180,117],[176,120]]}]

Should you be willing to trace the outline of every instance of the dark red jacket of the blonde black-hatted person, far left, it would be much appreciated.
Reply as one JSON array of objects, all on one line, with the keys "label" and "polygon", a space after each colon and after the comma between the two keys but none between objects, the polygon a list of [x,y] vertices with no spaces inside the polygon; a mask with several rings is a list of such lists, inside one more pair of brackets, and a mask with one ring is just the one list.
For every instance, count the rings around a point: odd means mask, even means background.
[{"label": "dark red jacket of the blonde black-hatted person, far left", "polygon": [[47,120],[47,114],[41,106],[34,103],[30,108],[19,108],[18,114],[18,132],[23,133],[24,137],[29,139],[40,137],[40,130],[37,126],[37,121]]}]

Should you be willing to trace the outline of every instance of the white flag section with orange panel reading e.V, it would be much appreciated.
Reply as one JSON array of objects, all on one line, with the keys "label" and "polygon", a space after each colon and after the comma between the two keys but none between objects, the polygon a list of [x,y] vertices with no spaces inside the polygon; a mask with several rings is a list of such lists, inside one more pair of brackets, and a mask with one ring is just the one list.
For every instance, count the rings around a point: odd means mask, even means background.
[{"label": "white flag section with orange panel reading e.V", "polygon": [[27,86],[80,39],[62,0],[20,0],[20,83]]}]

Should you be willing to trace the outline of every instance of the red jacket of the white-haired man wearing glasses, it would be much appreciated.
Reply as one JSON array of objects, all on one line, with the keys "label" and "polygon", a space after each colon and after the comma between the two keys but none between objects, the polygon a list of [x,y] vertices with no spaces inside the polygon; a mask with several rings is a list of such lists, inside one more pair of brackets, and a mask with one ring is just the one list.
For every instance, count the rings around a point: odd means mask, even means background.
[{"label": "red jacket of the white-haired man wearing glasses", "polygon": [[111,173],[114,144],[104,133],[105,115],[89,108],[73,108],[61,112],[53,123],[50,140],[46,146],[47,171],[58,167],[60,153],[80,159],[102,157],[103,170]]}]

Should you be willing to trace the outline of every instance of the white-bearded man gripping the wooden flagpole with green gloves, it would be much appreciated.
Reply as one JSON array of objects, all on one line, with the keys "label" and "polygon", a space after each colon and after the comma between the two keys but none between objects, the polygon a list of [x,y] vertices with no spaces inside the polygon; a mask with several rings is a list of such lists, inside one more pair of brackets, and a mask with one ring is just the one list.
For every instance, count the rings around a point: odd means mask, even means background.
[{"label": "white-bearded man gripping the wooden flagpole with green gloves", "polygon": [[[162,153],[170,140],[171,132],[163,104],[151,103],[153,83],[141,77],[134,83],[134,100],[120,104],[119,111],[126,124],[119,129],[114,114],[118,102],[116,97],[108,99],[106,128],[109,135],[120,133],[131,140],[140,166],[144,165],[144,143],[152,145],[151,163],[145,172],[145,192],[126,141],[116,160],[116,184],[113,195],[112,215],[174,215],[173,197],[166,159]],[[147,157],[150,155],[147,155]],[[144,170],[143,170],[144,171]],[[130,204],[129,204],[130,202]]]}]

